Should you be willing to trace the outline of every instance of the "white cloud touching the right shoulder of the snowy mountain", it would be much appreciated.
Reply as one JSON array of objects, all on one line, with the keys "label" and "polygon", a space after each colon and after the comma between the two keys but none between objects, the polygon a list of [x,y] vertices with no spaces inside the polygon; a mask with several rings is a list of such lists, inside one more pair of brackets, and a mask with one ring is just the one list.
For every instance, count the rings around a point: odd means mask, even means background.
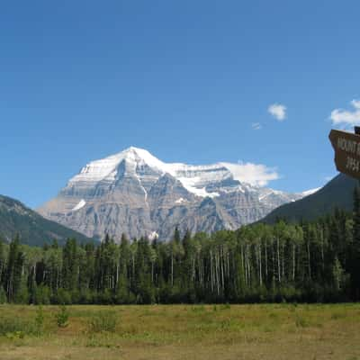
[{"label": "white cloud touching the right shoulder of the snowy mountain", "polygon": [[269,183],[269,181],[276,180],[280,177],[275,168],[268,167],[262,164],[221,164],[222,166],[225,166],[229,169],[235,180],[252,185],[265,186]]}]

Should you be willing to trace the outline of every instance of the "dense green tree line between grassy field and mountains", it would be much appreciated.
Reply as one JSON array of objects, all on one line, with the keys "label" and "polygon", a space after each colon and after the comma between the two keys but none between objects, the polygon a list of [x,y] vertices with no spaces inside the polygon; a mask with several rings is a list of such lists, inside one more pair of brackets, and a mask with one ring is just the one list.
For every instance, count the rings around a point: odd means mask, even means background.
[{"label": "dense green tree line between grassy field and mountains", "polygon": [[0,302],[180,303],[360,300],[360,192],[354,211],[258,223],[211,235],[175,229],[169,242],[122,235],[0,242]]}]

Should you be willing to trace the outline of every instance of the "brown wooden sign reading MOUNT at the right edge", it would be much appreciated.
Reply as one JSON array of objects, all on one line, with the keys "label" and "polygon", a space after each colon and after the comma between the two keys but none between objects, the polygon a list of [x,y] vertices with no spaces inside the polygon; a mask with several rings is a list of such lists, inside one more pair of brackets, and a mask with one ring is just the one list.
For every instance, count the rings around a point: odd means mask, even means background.
[{"label": "brown wooden sign reading MOUNT at the right edge", "polygon": [[335,165],[338,171],[360,179],[360,135],[331,130],[329,139],[335,150]]}]

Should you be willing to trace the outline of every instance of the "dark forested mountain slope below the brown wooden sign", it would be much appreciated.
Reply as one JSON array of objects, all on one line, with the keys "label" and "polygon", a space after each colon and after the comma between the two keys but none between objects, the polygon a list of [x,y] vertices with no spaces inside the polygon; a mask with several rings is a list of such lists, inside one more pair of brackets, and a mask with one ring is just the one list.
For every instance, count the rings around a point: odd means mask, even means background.
[{"label": "dark forested mountain slope below the brown wooden sign", "polygon": [[273,223],[277,219],[313,220],[330,213],[335,208],[351,211],[353,207],[353,192],[357,180],[347,175],[338,175],[328,184],[296,202],[286,203],[270,212],[262,222]]}]

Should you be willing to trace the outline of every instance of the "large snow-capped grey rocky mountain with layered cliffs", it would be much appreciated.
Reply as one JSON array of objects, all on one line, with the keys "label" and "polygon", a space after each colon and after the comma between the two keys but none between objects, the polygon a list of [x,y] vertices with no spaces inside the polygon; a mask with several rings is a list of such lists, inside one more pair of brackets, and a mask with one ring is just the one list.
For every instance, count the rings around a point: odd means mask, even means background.
[{"label": "large snow-capped grey rocky mountain with layered cliffs", "polygon": [[87,164],[38,209],[90,238],[170,239],[181,231],[238,229],[308,193],[284,193],[241,181],[237,164],[166,164],[127,148]]}]

